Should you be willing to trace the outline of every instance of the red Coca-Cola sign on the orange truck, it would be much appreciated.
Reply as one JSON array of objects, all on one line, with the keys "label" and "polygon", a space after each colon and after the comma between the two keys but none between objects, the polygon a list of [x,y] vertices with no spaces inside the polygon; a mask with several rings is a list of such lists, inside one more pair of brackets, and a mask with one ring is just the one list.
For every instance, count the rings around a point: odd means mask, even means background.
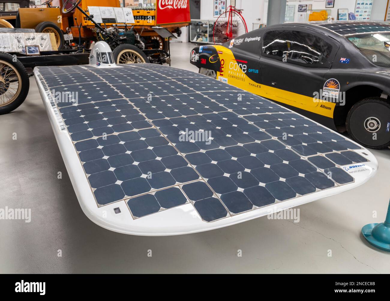
[{"label": "red Coca-Cola sign on the orange truck", "polygon": [[156,25],[191,22],[190,0],[157,0]]}]

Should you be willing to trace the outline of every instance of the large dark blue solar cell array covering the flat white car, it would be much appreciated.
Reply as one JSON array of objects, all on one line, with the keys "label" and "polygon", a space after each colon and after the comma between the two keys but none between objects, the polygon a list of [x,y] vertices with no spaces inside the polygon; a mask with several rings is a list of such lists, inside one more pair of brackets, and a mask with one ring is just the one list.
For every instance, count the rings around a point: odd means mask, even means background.
[{"label": "large dark blue solar cell array covering the flat white car", "polygon": [[[191,203],[206,222],[353,182],[355,143],[262,97],[152,64],[39,67],[97,206],[134,219]],[[78,94],[75,94],[77,92]],[[191,134],[194,134],[192,135]]]}]

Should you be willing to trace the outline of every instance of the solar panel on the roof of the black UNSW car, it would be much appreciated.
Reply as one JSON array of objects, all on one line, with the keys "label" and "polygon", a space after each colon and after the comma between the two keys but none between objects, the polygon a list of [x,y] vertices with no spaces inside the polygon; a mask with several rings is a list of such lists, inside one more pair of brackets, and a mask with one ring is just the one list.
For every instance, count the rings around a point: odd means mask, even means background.
[{"label": "solar panel on the roof of the black UNSW car", "polygon": [[[316,24],[316,23],[314,23]],[[374,32],[389,32],[390,24],[379,22],[326,22],[317,23],[318,26],[332,30],[339,35],[353,35],[353,34],[369,34]]]}]

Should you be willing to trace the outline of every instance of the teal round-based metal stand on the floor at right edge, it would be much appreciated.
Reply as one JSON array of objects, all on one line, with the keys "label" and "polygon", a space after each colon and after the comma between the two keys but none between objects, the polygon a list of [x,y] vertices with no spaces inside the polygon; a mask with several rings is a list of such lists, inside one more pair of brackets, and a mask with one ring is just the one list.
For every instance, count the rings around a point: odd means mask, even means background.
[{"label": "teal round-based metal stand on the floor at right edge", "polygon": [[390,251],[390,203],[384,223],[368,224],[362,228],[367,241],[379,249]]}]

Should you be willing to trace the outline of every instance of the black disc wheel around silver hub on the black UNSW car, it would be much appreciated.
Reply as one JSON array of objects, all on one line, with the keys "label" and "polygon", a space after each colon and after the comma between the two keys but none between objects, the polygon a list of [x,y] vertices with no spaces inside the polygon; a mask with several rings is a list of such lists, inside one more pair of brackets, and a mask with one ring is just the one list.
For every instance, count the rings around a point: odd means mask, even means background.
[{"label": "black disc wheel around silver hub on the black UNSW car", "polygon": [[[365,121],[369,117],[379,120],[376,132],[368,131]],[[390,102],[380,97],[369,97],[355,103],[346,120],[348,134],[353,140],[371,149],[384,149],[390,145]],[[372,139],[376,133],[376,140]]]}]

